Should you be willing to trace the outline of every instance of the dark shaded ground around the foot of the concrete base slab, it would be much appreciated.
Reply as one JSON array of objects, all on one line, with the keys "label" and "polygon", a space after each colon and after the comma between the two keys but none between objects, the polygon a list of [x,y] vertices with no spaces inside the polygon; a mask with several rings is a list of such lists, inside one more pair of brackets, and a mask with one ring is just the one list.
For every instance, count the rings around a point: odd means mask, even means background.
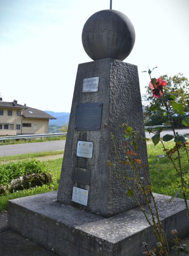
[{"label": "dark shaded ground around the foot of the concrete base slab", "polygon": [[[189,236],[181,240],[189,248]],[[7,212],[0,213],[0,255],[2,256],[55,256],[55,253],[33,243],[7,227]],[[144,255],[144,254],[143,254]],[[171,252],[171,256],[178,256]],[[180,253],[179,256],[186,254]],[[128,255],[129,256],[129,255]],[[136,255],[138,256],[138,255]]]}]

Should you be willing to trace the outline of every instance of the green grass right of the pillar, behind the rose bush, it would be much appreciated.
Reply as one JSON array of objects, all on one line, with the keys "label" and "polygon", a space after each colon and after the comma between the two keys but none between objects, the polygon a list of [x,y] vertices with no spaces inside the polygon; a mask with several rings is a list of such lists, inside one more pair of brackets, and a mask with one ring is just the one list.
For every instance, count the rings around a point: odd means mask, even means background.
[{"label": "green grass right of the pillar, behind the rose bush", "polygon": [[[173,141],[165,143],[166,148],[170,148],[170,146],[173,145]],[[168,157],[156,157],[158,154],[164,154],[161,143],[155,146],[151,142],[147,143],[147,150],[152,191],[164,195],[175,195],[176,192],[181,189],[181,179]],[[177,154],[175,153],[175,157],[176,155]],[[181,161],[184,172],[184,180],[186,183],[189,183],[189,164],[184,151],[182,151],[181,156],[183,157]],[[175,163],[177,163],[176,160]]]}]

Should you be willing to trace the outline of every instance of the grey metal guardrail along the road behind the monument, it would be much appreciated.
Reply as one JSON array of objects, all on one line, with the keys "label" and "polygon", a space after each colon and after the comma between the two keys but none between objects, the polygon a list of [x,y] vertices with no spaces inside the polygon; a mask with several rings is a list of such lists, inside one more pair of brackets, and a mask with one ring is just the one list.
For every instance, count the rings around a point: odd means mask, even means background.
[{"label": "grey metal guardrail along the road behind the monument", "polygon": [[[155,125],[155,126],[145,126],[144,128],[153,129],[153,128],[160,128],[160,127],[171,127],[171,125]],[[54,134],[28,134],[28,135],[15,135],[15,136],[2,136],[0,140],[16,140],[16,139],[32,139],[32,138],[40,138],[40,137],[55,137],[55,136],[66,136],[67,132],[60,132]]]}]

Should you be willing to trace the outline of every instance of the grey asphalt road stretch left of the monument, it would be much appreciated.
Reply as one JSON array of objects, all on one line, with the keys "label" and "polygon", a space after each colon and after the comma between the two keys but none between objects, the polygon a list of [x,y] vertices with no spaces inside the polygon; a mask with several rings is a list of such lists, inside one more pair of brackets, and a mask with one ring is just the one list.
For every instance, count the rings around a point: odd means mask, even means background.
[{"label": "grey asphalt road stretch left of the monument", "polygon": [[26,144],[2,145],[0,146],[0,157],[16,154],[27,154],[40,151],[64,150],[65,140],[53,140],[48,142],[36,142]]}]

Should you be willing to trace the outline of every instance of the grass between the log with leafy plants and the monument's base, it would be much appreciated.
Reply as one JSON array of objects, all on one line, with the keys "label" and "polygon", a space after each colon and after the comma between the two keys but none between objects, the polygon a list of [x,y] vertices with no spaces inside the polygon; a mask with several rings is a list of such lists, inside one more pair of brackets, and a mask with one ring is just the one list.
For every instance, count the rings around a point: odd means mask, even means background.
[{"label": "grass between the log with leafy plants and the monument's base", "polygon": [[30,189],[24,189],[13,193],[7,192],[6,195],[0,196],[0,212],[7,209],[8,200],[21,198],[29,195],[36,195],[50,192],[58,189],[60,172],[62,166],[62,158],[49,160],[45,162],[45,171],[52,174],[53,182],[50,185],[37,186]]}]

